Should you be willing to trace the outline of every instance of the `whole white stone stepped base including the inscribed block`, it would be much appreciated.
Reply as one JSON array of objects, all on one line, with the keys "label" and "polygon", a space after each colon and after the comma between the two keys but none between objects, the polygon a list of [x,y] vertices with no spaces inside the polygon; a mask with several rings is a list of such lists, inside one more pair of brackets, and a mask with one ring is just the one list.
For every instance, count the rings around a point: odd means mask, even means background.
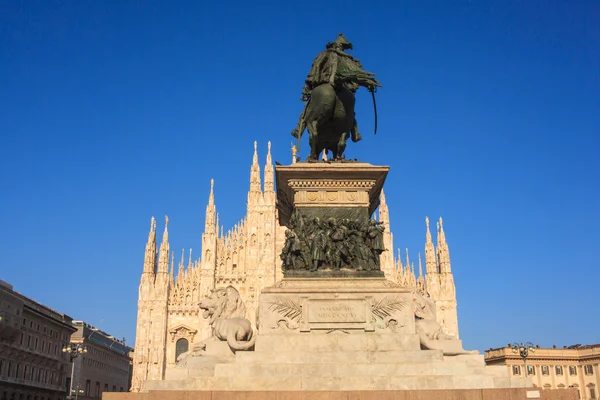
[{"label": "whole white stone stepped base including the inscribed block", "polygon": [[[167,380],[146,381],[143,390],[383,390],[403,396],[396,391],[532,386],[531,379],[511,379],[506,367],[485,366],[480,354],[422,350],[413,301],[410,291],[381,278],[286,278],[261,293],[254,351],[232,355],[226,343],[209,342],[203,356],[169,369]],[[439,342],[462,348],[459,340]]]}]

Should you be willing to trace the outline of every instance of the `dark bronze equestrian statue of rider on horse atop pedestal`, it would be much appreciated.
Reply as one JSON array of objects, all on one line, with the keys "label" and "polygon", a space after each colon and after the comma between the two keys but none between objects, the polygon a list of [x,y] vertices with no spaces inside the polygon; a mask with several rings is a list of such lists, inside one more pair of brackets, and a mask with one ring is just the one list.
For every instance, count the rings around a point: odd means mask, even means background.
[{"label": "dark bronze equestrian statue of rider on horse atop pedestal", "polygon": [[331,151],[334,160],[342,160],[348,138],[361,140],[354,113],[354,94],[359,86],[368,88],[373,95],[377,132],[375,89],[381,85],[359,60],[345,52],[351,49],[352,43],[340,33],[317,55],[306,78],[302,92],[306,104],[292,136],[300,139],[304,129],[308,129],[308,161],[317,161],[323,150]]}]

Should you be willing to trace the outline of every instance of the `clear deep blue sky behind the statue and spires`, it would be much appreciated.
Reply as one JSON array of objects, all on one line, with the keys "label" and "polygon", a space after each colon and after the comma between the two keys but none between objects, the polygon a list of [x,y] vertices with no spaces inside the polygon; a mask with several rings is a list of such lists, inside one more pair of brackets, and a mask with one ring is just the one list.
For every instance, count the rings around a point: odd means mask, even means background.
[{"label": "clear deep blue sky behind the statue and spires", "polygon": [[391,166],[413,260],[444,217],[465,347],[600,342],[591,0],[0,2],[0,279],[132,344],[150,217],[177,258],[200,254],[211,178],[241,219],[253,142],[289,162],[340,31],[383,84],[348,157]]}]

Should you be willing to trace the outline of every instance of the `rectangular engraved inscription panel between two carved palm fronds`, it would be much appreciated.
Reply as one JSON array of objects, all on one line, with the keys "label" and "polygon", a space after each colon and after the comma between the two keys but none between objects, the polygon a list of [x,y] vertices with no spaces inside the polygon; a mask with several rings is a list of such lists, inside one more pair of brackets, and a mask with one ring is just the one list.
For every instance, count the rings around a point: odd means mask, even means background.
[{"label": "rectangular engraved inscription panel between two carved palm fronds", "polygon": [[308,322],[365,323],[364,300],[311,300],[308,305]]}]

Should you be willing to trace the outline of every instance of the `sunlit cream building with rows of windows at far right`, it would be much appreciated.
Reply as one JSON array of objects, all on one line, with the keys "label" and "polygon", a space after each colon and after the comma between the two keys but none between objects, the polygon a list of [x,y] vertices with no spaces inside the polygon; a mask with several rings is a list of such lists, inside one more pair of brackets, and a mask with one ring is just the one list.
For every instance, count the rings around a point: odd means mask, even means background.
[{"label": "sunlit cream building with rows of windows at far right", "polygon": [[506,365],[511,377],[530,377],[541,389],[575,388],[582,400],[598,398],[600,344],[537,347],[526,359],[526,370],[523,359],[510,345],[487,350],[485,361],[487,365]]}]

